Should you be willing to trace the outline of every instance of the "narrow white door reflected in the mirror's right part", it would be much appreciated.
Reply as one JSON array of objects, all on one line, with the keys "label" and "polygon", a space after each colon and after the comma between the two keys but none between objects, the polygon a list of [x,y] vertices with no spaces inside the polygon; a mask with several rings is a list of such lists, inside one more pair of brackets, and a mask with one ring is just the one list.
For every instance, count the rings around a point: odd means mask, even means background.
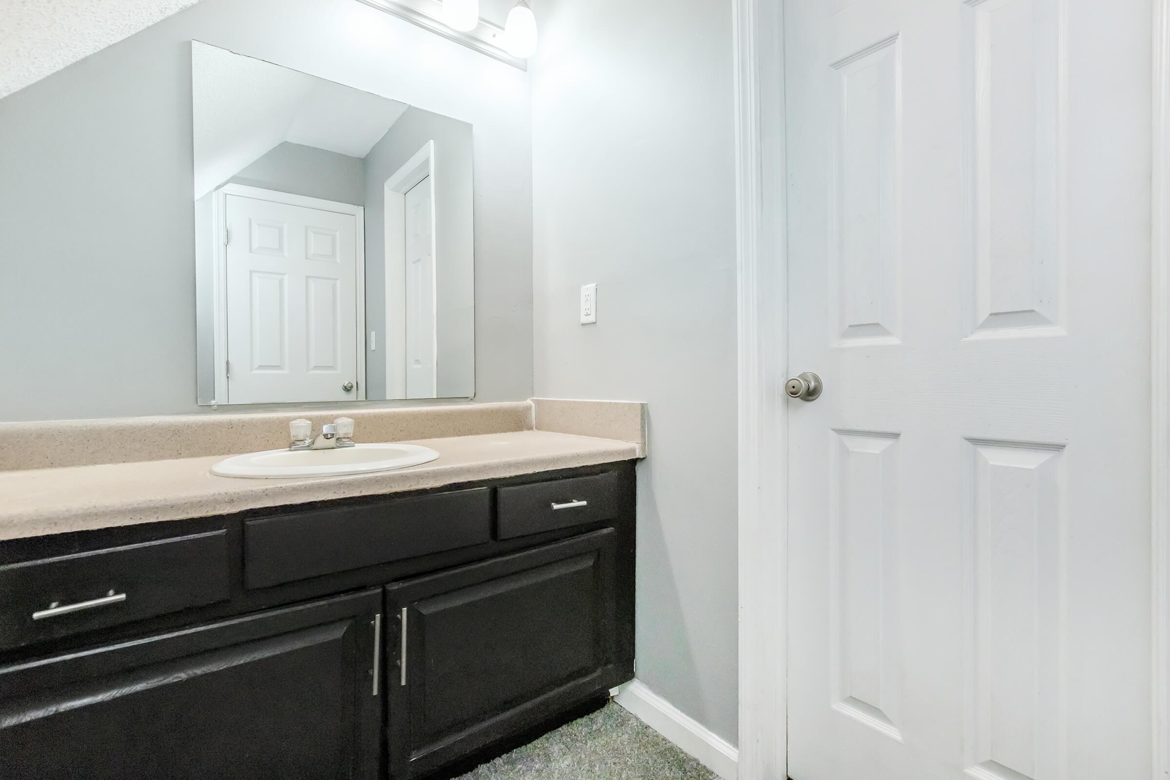
[{"label": "narrow white door reflected in the mirror's right part", "polygon": [[406,193],[406,396],[436,398],[431,177]]}]

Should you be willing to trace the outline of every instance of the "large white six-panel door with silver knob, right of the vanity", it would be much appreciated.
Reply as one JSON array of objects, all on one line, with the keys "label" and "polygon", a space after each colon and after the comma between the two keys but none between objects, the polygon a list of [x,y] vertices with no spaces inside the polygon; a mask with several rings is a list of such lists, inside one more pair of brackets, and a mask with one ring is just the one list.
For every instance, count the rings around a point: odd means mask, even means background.
[{"label": "large white six-panel door with silver knob, right of the vanity", "polygon": [[787,0],[789,774],[1148,780],[1149,0]]}]

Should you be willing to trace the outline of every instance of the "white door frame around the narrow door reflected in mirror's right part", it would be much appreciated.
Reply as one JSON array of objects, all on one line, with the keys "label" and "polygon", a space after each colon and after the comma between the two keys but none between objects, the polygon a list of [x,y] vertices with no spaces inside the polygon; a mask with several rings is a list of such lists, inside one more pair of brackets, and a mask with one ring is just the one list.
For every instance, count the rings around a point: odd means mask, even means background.
[{"label": "white door frame around the narrow door reflected in mirror's right part", "polygon": [[[386,258],[386,398],[406,398],[406,193],[431,178],[431,258],[434,285],[439,289],[439,232],[435,229],[439,203],[435,202],[435,143],[428,140],[383,185],[383,225]],[[435,345],[433,365],[439,372],[438,295],[435,294]],[[436,385],[438,388],[438,375]]]}]

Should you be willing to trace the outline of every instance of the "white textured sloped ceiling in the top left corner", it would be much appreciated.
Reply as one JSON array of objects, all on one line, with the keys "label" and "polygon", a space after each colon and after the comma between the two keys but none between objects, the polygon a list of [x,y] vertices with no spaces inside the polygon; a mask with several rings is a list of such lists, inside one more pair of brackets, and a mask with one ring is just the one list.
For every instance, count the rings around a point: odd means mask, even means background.
[{"label": "white textured sloped ceiling in the top left corner", "polygon": [[0,97],[198,0],[2,0]]}]

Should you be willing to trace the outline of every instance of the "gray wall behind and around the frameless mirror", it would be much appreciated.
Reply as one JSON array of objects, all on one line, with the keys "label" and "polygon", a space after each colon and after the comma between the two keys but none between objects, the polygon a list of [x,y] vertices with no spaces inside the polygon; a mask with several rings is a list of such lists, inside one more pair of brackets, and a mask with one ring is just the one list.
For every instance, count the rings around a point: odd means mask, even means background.
[{"label": "gray wall behind and around the frameless mirror", "polygon": [[475,126],[476,398],[528,398],[526,74],[352,0],[204,0],[0,99],[0,420],[204,410],[192,39]]}]

